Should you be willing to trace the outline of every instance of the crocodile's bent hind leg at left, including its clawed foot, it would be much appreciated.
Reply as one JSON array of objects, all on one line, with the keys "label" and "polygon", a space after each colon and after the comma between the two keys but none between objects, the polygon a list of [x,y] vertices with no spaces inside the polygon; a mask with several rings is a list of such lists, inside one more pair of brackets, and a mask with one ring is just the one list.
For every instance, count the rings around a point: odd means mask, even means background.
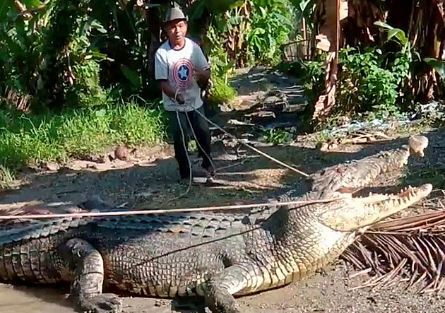
[{"label": "crocodile's bent hind leg at left, including its clawed foot", "polygon": [[73,266],[70,299],[76,303],[79,312],[121,312],[121,299],[111,293],[102,293],[103,260],[90,243],[71,239],[61,247],[61,254]]}]

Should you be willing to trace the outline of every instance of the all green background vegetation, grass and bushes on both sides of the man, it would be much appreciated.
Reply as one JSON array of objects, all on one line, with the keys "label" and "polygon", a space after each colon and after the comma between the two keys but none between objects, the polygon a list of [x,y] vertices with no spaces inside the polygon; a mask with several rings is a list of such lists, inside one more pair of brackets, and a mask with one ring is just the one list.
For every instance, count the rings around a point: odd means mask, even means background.
[{"label": "all green background vegetation, grass and bushes on both sides of the man", "polygon": [[[112,0],[0,4],[2,184],[11,184],[14,172],[28,162],[63,162],[121,142],[152,145],[165,138],[152,61],[160,18],[170,1],[160,6],[144,2],[147,6]],[[298,76],[304,95],[314,104],[326,78],[326,52],[314,47],[326,12],[317,11],[316,3],[177,0],[190,17],[189,35],[203,39],[210,60],[210,105],[231,105],[237,96],[229,83],[235,69],[258,65]],[[355,18],[360,16],[367,14]],[[425,54],[419,44],[429,37],[415,43],[410,38],[423,33],[407,35],[408,29],[369,20],[354,25],[376,27],[375,41],[347,40],[348,34],[343,34],[344,42],[354,46],[340,49],[336,105],[325,125],[336,124],[344,115],[386,119],[403,114],[415,107],[420,93],[426,94],[425,86],[434,85],[431,94],[443,94],[445,62],[421,55],[434,55]],[[415,28],[425,27],[419,22]],[[283,62],[284,47],[295,42],[304,42],[304,53],[298,52],[302,60]],[[430,69],[435,72],[425,78]],[[280,144],[293,135],[271,130],[263,136]]]}]

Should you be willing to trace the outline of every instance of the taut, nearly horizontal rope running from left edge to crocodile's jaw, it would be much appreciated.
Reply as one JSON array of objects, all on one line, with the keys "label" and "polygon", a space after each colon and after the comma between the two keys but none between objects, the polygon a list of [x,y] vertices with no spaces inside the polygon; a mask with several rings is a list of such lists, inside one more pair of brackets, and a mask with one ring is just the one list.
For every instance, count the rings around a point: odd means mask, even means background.
[{"label": "taut, nearly horizontal rope running from left edge to crocodile's jaw", "polygon": [[336,201],[340,198],[318,199],[309,201],[287,201],[276,203],[254,203],[254,204],[237,204],[232,206],[207,206],[203,208],[172,208],[172,209],[151,209],[138,211],[113,211],[113,212],[82,212],[82,213],[54,213],[54,214],[29,214],[29,215],[0,215],[0,220],[20,220],[28,218],[85,218],[85,217],[105,217],[105,216],[127,216],[127,215],[152,215],[163,213],[192,213],[192,212],[208,212],[208,211],[228,211],[245,208],[259,208],[271,206],[290,206],[293,204],[312,204],[327,203]]}]

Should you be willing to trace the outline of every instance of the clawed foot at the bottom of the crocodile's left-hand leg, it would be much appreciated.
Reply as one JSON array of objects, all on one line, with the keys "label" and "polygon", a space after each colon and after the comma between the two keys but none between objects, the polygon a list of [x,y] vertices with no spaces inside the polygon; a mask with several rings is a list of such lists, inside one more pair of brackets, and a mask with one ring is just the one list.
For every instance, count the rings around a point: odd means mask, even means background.
[{"label": "clawed foot at the bottom of the crocodile's left-hand leg", "polygon": [[79,299],[78,308],[82,313],[121,313],[122,300],[113,293],[100,293]]}]

